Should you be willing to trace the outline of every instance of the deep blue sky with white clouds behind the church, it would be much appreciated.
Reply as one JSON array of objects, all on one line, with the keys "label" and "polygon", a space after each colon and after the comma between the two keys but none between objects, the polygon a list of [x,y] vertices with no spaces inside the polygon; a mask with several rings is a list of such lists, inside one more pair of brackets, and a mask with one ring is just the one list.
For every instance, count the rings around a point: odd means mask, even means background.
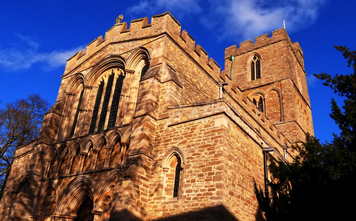
[{"label": "deep blue sky with white clouds behind the church", "polygon": [[30,93],[56,101],[66,60],[94,38],[105,35],[116,17],[124,21],[170,11],[221,67],[224,49],[283,27],[304,52],[315,136],[331,141],[338,128],[329,118],[338,97],[314,73],[349,74],[334,45],[356,48],[356,1],[322,0],[152,0],[1,1],[1,106]]}]

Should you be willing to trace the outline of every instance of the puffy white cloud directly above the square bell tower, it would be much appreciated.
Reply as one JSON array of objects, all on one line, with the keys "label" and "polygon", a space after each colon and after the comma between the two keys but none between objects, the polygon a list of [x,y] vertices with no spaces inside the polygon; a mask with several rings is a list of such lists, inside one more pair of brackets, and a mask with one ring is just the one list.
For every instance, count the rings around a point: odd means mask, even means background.
[{"label": "puffy white cloud directly above the square bell tower", "polygon": [[322,3],[321,0],[225,1],[218,11],[225,12],[222,17],[227,31],[224,37],[232,33],[248,39],[282,28],[283,19],[289,32],[308,26],[315,20]]}]

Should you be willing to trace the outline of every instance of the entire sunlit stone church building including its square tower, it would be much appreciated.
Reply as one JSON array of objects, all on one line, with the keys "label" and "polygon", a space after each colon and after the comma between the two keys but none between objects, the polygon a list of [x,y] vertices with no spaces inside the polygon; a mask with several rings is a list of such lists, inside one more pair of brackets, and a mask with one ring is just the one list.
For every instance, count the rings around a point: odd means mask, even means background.
[{"label": "entire sunlit stone church building including its square tower", "polygon": [[40,135],[16,150],[0,220],[261,220],[262,148],[313,134],[303,51],[285,29],[219,65],[166,12],[67,60]]}]

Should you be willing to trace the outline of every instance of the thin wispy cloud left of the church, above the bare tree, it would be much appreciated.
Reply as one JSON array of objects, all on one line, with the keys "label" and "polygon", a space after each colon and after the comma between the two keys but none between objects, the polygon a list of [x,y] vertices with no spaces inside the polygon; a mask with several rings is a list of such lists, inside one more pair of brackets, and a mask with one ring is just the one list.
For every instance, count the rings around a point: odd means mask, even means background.
[{"label": "thin wispy cloud left of the church, above the bare tree", "polygon": [[65,65],[68,58],[83,48],[41,52],[38,50],[39,43],[21,34],[16,34],[16,36],[23,43],[21,49],[13,47],[0,50],[0,66],[7,70],[25,70],[34,64],[40,64],[44,70],[53,70]]}]

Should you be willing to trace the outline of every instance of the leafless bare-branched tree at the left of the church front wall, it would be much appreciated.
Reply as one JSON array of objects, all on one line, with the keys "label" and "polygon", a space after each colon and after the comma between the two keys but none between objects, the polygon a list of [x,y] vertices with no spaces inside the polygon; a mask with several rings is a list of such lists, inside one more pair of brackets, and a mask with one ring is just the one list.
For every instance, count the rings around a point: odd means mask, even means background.
[{"label": "leafless bare-branched tree at the left of the church front wall", "polygon": [[32,94],[0,109],[0,200],[15,150],[36,139],[48,106],[45,99]]}]

